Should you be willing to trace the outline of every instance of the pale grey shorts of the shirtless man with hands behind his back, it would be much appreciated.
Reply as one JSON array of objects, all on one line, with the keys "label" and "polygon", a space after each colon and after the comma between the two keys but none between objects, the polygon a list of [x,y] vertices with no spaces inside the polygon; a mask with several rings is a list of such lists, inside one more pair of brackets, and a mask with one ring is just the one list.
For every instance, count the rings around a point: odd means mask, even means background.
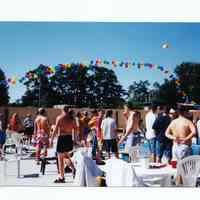
[{"label": "pale grey shorts of the shirtless man with hands behind his back", "polygon": [[182,160],[192,155],[192,148],[187,144],[174,144],[173,145],[173,157],[176,160]]}]

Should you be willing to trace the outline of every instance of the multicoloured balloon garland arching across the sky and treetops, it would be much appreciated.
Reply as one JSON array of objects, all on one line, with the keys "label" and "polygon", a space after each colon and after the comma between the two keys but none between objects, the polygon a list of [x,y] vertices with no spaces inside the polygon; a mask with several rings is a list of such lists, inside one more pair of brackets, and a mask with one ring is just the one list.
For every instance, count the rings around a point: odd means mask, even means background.
[{"label": "multicoloured balloon garland arching across the sky and treetops", "polygon": [[[165,46],[163,48],[168,48],[168,46],[165,44]],[[157,65],[157,64],[152,64],[152,63],[143,63],[143,62],[139,62],[139,63],[135,63],[135,62],[128,62],[128,61],[117,61],[117,60],[112,60],[112,61],[108,61],[108,60],[101,60],[101,59],[96,59],[91,60],[87,63],[78,63],[78,66],[80,69],[83,69],[85,67],[91,67],[91,66],[97,66],[97,67],[108,67],[108,66],[112,66],[113,68],[116,67],[124,67],[126,69],[128,68],[135,68],[137,67],[138,69],[143,69],[143,68],[149,68],[149,69],[157,69],[159,71],[161,71],[165,76],[168,76],[168,79],[174,80],[176,83],[177,88],[179,89],[179,91],[182,93],[183,96],[187,96],[185,94],[185,92],[182,92],[180,90],[180,80],[175,78],[175,75],[173,73],[171,73],[168,69],[166,69],[164,66],[161,65]],[[44,65],[45,66],[45,65]],[[37,70],[36,72],[30,71],[27,72],[26,75],[24,77],[12,77],[12,78],[7,78],[6,80],[1,80],[0,84],[4,84],[6,86],[11,85],[11,86],[15,86],[17,84],[17,82],[19,81],[19,83],[23,83],[26,79],[28,80],[36,80],[40,77],[40,75],[42,75],[42,73],[45,73],[45,75],[47,76],[52,76],[56,73],[56,71],[58,70],[66,70],[68,68],[71,68],[73,66],[73,64],[58,64],[56,66],[52,66],[52,65],[47,65],[46,66],[46,70],[45,71],[40,71]],[[74,74],[75,70],[73,70],[73,74]],[[75,78],[75,76],[73,76]]]}]

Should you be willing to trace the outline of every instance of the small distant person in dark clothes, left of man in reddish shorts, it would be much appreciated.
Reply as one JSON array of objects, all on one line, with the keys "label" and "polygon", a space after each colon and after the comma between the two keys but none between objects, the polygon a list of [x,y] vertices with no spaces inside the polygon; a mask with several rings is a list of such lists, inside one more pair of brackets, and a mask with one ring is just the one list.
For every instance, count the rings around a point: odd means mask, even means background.
[{"label": "small distant person in dark clothes, left of man in reddish shorts", "polygon": [[26,115],[24,119],[24,135],[26,136],[28,144],[31,144],[32,135],[34,132],[34,121],[30,114]]}]

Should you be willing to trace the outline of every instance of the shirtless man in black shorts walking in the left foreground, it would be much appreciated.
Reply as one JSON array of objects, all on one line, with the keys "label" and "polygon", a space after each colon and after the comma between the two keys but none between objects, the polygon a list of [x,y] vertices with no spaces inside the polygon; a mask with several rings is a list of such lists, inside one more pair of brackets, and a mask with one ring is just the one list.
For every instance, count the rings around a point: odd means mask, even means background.
[{"label": "shirtless man in black shorts walking in the left foreground", "polygon": [[53,146],[53,140],[56,133],[58,133],[56,152],[58,154],[58,178],[54,181],[55,183],[65,183],[65,159],[72,168],[73,177],[75,176],[75,168],[70,159],[69,152],[73,150],[72,134],[76,129],[76,122],[73,117],[73,111],[65,106],[62,113],[56,119],[55,129],[53,131],[50,146]]}]

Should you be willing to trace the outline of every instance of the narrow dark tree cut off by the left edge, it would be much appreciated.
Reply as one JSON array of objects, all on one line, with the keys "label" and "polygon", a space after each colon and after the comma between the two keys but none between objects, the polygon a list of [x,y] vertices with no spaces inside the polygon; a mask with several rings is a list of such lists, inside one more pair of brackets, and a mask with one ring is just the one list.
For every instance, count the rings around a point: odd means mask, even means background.
[{"label": "narrow dark tree cut off by the left edge", "polygon": [[0,69],[0,106],[8,105],[9,95],[8,95],[8,84],[4,72]]}]

